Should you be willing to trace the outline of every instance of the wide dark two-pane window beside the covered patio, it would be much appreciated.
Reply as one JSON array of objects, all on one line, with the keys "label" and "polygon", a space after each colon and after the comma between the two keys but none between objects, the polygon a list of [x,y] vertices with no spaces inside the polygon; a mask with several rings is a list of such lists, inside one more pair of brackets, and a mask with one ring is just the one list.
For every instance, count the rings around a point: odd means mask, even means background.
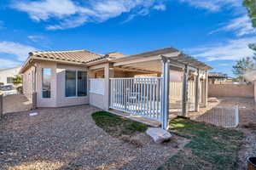
[{"label": "wide dark two-pane window beside the covered patio", "polygon": [[87,72],[66,71],[66,97],[87,95]]}]

